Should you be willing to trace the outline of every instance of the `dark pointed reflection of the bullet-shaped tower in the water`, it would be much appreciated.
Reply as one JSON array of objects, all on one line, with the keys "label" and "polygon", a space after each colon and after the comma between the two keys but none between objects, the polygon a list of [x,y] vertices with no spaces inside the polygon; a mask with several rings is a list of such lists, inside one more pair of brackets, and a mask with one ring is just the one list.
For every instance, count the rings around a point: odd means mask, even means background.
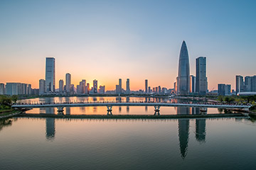
[{"label": "dark pointed reflection of the bullet-shaped tower in the water", "polygon": [[[190,108],[178,107],[177,115],[191,114]],[[188,152],[189,119],[178,119],[178,140],[181,151],[181,157],[184,159]]]}]

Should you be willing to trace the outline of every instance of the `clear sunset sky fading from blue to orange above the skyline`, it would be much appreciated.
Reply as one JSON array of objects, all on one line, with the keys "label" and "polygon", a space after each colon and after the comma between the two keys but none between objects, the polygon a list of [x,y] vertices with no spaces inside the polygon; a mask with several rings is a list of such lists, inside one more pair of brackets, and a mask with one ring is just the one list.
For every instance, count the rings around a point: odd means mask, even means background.
[{"label": "clear sunset sky fading from blue to orange above the skyline", "polygon": [[207,60],[208,89],[256,74],[256,1],[0,1],[0,83],[38,88],[46,57],[55,77],[86,79],[114,90],[173,88],[183,40],[191,74]]}]

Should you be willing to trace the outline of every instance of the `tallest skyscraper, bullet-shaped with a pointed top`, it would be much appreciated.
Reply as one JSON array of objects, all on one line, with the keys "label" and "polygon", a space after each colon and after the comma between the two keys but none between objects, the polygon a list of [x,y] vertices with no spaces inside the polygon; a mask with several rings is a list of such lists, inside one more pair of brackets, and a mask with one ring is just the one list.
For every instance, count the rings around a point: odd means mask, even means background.
[{"label": "tallest skyscraper, bullet-shaped with a pointed top", "polygon": [[183,41],[181,45],[181,52],[178,61],[178,77],[177,77],[177,92],[178,95],[188,95],[190,90],[190,72],[188,49],[186,42]]}]

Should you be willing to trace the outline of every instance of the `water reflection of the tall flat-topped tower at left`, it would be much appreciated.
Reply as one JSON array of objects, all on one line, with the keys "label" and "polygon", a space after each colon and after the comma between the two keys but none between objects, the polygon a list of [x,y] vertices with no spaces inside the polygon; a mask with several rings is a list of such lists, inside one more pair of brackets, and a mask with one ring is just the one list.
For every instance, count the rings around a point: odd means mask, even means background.
[{"label": "water reflection of the tall flat-topped tower at left", "polygon": [[[43,111],[45,110],[45,111]],[[40,108],[40,113],[54,114],[54,108]],[[55,118],[46,118],[46,140],[53,141],[55,138]]]}]

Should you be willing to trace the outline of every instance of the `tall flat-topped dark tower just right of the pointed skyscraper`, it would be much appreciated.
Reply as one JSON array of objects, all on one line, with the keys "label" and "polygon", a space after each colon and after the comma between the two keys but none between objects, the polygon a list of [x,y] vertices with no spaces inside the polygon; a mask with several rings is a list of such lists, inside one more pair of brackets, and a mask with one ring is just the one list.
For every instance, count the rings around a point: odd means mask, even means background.
[{"label": "tall flat-topped dark tower just right of the pointed skyscraper", "polygon": [[206,57],[198,57],[196,58],[196,92],[199,95],[206,95],[207,89]]}]

